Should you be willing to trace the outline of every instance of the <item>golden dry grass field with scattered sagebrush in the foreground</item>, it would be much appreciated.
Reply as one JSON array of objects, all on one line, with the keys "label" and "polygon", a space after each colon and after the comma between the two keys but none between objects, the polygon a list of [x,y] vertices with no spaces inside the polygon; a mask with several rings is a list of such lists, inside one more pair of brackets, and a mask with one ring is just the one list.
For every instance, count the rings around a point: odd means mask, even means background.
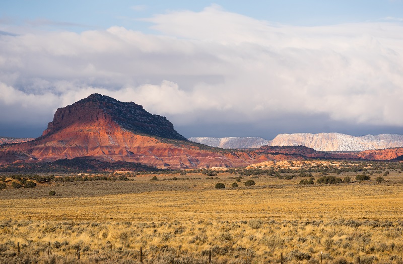
[{"label": "golden dry grass field with scattered sagebrush in the foreground", "polygon": [[321,251],[323,263],[403,263],[401,172],[334,185],[259,176],[251,187],[250,177],[229,187],[229,173],[157,177],[0,190],[0,262],[74,263],[80,245],[90,263],[138,263],[141,246],[145,263],[206,263],[210,250],[214,263],[245,263],[246,249],[248,263],[281,253],[286,263],[320,263]]}]

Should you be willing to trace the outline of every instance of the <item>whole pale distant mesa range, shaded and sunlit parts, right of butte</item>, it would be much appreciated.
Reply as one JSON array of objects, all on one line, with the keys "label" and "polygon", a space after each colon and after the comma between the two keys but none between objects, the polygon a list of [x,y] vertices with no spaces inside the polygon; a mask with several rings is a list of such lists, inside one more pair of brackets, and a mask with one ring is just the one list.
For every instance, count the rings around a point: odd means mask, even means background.
[{"label": "whole pale distant mesa range, shaded and sunlit parts, right of butte", "polygon": [[340,133],[280,134],[262,138],[189,138],[190,141],[224,149],[254,149],[261,146],[305,146],[317,151],[364,151],[403,147],[403,135],[381,134],[354,137]]}]

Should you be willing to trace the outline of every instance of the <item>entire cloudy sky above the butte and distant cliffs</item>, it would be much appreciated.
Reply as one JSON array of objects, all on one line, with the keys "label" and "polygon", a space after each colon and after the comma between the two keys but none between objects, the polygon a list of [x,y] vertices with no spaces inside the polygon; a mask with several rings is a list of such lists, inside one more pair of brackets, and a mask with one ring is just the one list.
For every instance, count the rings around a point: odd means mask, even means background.
[{"label": "entire cloudy sky above the butte and distant cliffs", "polygon": [[403,134],[403,0],[2,1],[0,136],[100,93],[185,137]]}]

